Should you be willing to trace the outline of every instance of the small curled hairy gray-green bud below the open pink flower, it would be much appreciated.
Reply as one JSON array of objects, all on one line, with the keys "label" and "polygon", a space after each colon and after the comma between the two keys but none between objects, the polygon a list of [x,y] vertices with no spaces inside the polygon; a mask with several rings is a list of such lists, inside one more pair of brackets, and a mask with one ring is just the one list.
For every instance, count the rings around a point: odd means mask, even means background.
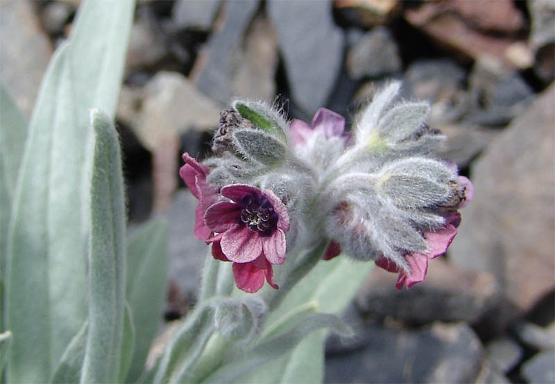
[{"label": "small curled hairy gray-green bud below the open pink flower", "polygon": [[216,304],[214,327],[224,338],[246,344],[262,332],[267,315],[268,306],[261,299],[227,299]]}]

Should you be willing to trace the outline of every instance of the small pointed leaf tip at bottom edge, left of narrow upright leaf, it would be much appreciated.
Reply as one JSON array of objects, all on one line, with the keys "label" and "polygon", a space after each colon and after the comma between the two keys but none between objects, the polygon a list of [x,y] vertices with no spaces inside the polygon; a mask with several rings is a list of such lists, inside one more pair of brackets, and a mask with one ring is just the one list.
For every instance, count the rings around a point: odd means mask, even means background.
[{"label": "small pointed leaf tip at bottom edge, left of narrow upright leaf", "polygon": [[87,345],[88,322],[85,321],[78,333],[67,345],[56,369],[50,378],[50,383],[78,383],[85,357]]}]

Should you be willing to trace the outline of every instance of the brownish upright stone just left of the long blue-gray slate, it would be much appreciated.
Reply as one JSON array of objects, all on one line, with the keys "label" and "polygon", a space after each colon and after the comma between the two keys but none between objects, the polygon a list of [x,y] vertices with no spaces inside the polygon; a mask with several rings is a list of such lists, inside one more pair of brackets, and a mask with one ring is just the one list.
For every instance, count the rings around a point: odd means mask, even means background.
[{"label": "brownish upright stone just left of the long blue-gray slate", "polygon": [[255,17],[246,33],[243,54],[243,60],[232,76],[233,96],[272,103],[278,68],[278,41],[268,19]]}]

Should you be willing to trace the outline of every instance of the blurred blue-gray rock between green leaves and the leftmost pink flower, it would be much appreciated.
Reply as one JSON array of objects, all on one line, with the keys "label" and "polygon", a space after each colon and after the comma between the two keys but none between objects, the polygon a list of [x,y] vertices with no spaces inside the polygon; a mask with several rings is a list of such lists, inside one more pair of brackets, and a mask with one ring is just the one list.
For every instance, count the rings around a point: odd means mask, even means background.
[{"label": "blurred blue-gray rock between green leaves and the leftmost pink flower", "polygon": [[193,234],[198,200],[186,189],[176,193],[167,211],[169,220],[169,279],[181,289],[181,297],[196,296],[200,270],[208,247]]}]

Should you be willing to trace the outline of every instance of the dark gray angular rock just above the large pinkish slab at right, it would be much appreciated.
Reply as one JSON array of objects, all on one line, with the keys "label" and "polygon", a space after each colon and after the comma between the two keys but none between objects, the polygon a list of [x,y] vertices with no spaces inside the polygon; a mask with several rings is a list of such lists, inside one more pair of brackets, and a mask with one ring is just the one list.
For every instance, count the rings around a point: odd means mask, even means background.
[{"label": "dark gray angular rock just above the large pinkish slab at right", "polygon": [[477,60],[469,78],[470,112],[467,121],[506,125],[533,101],[534,94],[516,71],[506,71],[488,58]]}]

